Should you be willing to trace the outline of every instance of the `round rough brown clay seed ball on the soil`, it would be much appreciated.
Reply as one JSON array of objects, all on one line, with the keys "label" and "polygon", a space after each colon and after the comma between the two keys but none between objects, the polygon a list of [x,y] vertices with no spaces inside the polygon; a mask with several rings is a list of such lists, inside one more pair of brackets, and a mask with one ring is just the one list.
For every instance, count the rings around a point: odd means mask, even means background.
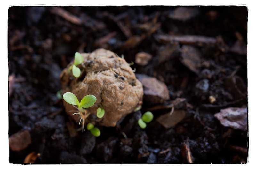
[{"label": "round rough brown clay seed ball on the soil", "polygon": [[[90,116],[102,126],[115,126],[123,116],[131,113],[143,98],[143,88],[136,79],[132,68],[122,58],[105,49],[97,49],[92,53],[82,53],[83,63],[79,78],[68,73],[68,67],[60,75],[63,93],[72,92],[80,101],[85,95],[92,94],[97,98],[96,103],[87,110],[96,115],[98,107],[105,109],[101,119]],[[64,101],[66,112],[78,120],[74,107]]]}]

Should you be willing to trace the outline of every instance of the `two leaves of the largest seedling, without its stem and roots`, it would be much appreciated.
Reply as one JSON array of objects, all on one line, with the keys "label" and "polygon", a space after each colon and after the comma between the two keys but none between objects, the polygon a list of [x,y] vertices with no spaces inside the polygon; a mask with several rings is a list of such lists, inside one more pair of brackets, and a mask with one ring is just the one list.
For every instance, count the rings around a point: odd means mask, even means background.
[{"label": "two leaves of the largest seedling, without its stem and roots", "polygon": [[84,96],[81,102],[79,102],[76,95],[71,92],[66,92],[63,94],[63,99],[71,105],[77,105],[77,107],[80,109],[92,107],[97,100],[95,96],[90,94]]}]

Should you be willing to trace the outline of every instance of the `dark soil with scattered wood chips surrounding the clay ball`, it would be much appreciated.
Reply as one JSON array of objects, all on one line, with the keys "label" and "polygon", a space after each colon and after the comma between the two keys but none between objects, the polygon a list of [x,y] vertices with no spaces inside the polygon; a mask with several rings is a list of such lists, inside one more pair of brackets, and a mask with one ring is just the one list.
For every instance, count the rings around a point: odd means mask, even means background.
[{"label": "dark soil with scattered wood chips surrounding the clay ball", "polygon": [[[31,136],[25,149],[10,149],[10,163],[32,152],[38,164],[247,163],[247,131],[214,117],[247,107],[246,7],[10,7],[8,45],[9,136]],[[97,48],[128,63],[139,52],[152,55],[148,65],[131,67],[164,82],[170,99],[157,107],[144,102],[116,127],[99,127],[100,137],[71,134],[68,127],[80,126],[56,96],[60,72],[76,51]],[[165,129],[156,119],[177,98],[186,100],[178,107],[186,115]],[[141,129],[137,120],[152,107],[154,120]]]}]

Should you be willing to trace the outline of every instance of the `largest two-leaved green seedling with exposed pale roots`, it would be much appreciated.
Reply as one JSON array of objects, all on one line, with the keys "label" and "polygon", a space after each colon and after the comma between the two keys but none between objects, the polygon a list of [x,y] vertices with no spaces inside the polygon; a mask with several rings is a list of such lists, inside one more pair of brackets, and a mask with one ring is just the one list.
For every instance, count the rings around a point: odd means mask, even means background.
[{"label": "largest two-leaved green seedling with exposed pale roots", "polygon": [[79,125],[82,121],[82,131],[83,130],[85,131],[84,129],[85,119],[90,115],[90,113],[87,113],[86,110],[83,108],[92,107],[97,100],[96,97],[93,95],[87,95],[83,97],[81,102],[79,102],[75,94],[71,92],[66,92],[65,94],[63,94],[63,99],[67,103],[73,105],[74,107],[75,105],[77,106],[76,108],[78,109],[78,112],[74,113],[73,115],[76,115],[76,114],[80,115]]}]

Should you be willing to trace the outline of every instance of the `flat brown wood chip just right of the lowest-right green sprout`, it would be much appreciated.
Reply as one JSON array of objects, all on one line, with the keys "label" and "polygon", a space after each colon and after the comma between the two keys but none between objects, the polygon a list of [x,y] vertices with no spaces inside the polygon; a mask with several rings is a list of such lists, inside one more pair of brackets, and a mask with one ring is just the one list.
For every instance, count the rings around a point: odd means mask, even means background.
[{"label": "flat brown wood chip just right of the lowest-right green sprout", "polygon": [[171,115],[171,112],[159,116],[156,121],[163,125],[166,129],[175,126],[179,123],[186,115],[184,110],[175,110]]}]

